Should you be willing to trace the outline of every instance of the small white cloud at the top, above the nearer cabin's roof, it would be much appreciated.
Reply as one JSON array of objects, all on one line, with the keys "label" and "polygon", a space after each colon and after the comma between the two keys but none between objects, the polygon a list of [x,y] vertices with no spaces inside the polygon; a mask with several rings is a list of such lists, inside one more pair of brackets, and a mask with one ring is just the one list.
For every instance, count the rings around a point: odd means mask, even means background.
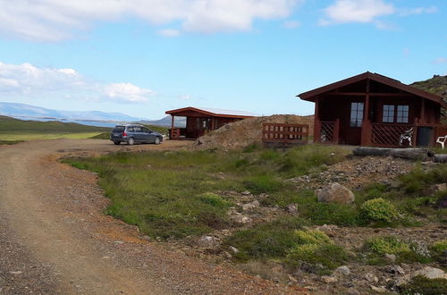
[{"label": "small white cloud at the top, above the nearer cabin's roof", "polygon": [[375,18],[395,12],[392,4],[384,0],[337,0],[325,8],[322,25],[345,22],[371,22]]}]

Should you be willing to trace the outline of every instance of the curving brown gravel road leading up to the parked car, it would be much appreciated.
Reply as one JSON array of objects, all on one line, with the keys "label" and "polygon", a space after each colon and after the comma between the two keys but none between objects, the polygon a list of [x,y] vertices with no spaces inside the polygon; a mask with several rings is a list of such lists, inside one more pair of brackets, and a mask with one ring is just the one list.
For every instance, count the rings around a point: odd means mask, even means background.
[{"label": "curving brown gravel road leading up to the parked car", "polygon": [[107,199],[95,174],[57,162],[184,144],[58,139],[0,146],[0,294],[298,292],[140,239],[135,227],[102,213]]}]

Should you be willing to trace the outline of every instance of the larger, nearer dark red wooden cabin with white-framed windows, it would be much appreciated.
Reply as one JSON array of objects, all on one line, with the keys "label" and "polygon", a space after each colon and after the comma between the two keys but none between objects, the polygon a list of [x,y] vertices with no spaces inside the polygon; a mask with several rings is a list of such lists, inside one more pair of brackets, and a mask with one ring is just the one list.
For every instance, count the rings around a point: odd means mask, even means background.
[{"label": "larger, nearer dark red wooden cabin with white-framed windows", "polygon": [[299,94],[315,103],[314,141],[371,147],[434,146],[447,134],[443,97],[364,72]]}]

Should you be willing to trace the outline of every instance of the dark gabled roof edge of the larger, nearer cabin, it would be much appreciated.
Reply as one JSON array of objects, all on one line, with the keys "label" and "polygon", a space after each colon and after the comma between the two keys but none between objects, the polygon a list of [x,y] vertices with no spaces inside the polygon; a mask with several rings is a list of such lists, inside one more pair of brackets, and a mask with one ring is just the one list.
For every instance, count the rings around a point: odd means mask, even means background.
[{"label": "dark gabled roof edge of the larger, nearer cabin", "polygon": [[443,106],[443,108],[447,108],[447,103],[443,100],[443,97],[435,95],[433,93],[430,92],[426,92],[424,90],[421,89],[417,89],[415,87],[409,86],[407,84],[403,84],[401,81],[399,80],[394,80],[392,78],[386,77],[384,75],[375,73],[375,72],[364,72],[361,73],[359,75],[350,77],[348,79],[344,79],[344,80],[340,80],[325,86],[322,86],[320,88],[317,89],[313,89],[307,92],[303,92],[301,94],[299,94],[297,97],[303,99],[303,100],[307,100],[307,101],[312,101],[315,102],[316,101],[316,97],[318,95],[324,94],[326,92],[329,91],[333,91],[334,89],[339,89],[343,86],[346,85],[350,85],[352,83],[358,82],[360,80],[375,80],[379,83],[382,83],[384,85],[388,85],[391,86],[392,88],[395,89],[401,89],[404,92],[407,92],[409,94],[415,95],[417,97],[424,97],[428,100],[432,100],[440,105]]}]

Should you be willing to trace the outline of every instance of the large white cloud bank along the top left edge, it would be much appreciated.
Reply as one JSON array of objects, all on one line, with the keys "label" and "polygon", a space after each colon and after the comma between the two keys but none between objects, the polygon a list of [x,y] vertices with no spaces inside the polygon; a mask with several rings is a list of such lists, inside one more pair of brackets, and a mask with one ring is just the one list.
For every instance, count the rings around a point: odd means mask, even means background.
[{"label": "large white cloud bank along the top left edge", "polygon": [[[281,19],[305,0],[14,0],[0,1],[0,33],[59,41],[97,21],[136,17],[151,24],[181,23],[181,30],[213,33],[250,30],[256,19]],[[173,36],[169,31],[161,34]]]}]

